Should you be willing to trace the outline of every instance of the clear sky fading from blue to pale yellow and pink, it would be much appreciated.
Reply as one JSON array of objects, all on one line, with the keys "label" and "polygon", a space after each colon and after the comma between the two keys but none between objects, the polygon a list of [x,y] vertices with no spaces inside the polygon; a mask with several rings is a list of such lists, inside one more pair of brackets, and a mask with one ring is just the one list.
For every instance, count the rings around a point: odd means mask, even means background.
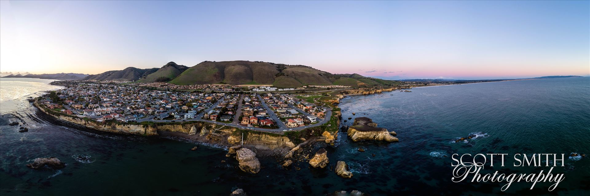
[{"label": "clear sky fading from blue to pale yellow and pink", "polygon": [[202,61],[386,79],[590,75],[590,1],[1,1],[0,71]]}]

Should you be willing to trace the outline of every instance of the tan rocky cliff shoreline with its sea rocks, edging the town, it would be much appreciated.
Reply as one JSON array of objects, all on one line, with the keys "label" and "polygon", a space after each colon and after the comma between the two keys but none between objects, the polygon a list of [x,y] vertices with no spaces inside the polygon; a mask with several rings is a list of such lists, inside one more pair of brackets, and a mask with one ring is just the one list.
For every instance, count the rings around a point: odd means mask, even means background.
[{"label": "tan rocky cliff shoreline with its sea rocks, edging the town", "polygon": [[[391,91],[392,89],[385,89],[385,91]],[[361,91],[359,94],[368,95],[383,91],[383,89]],[[348,96],[352,94],[339,94],[332,101],[332,104],[338,104],[339,99],[345,95]],[[250,174],[257,174],[261,170],[261,164],[258,157],[275,157],[277,158],[277,164],[287,170],[289,170],[289,168],[300,170],[300,168],[297,167],[300,165],[291,165],[295,162],[305,161],[309,163],[310,168],[330,170],[342,178],[353,177],[353,173],[348,169],[346,160],[339,160],[335,165],[331,165],[329,169],[326,168],[330,163],[327,157],[328,152],[321,147],[331,147],[335,145],[335,141],[338,137],[337,132],[322,131],[322,134],[319,134],[320,136],[297,138],[303,140],[303,142],[300,141],[300,143],[297,144],[293,139],[286,135],[241,130],[224,125],[209,124],[207,122],[196,121],[170,124],[153,123],[149,125],[101,123],[87,119],[68,117],[68,115],[53,114],[52,111],[48,111],[47,108],[40,106],[37,102],[35,102],[34,105],[40,109],[41,112],[58,119],[58,121],[80,125],[98,131],[113,132],[117,134],[135,134],[148,137],[178,137],[206,145],[223,147],[228,150],[226,157],[234,157],[238,162],[238,168]],[[340,113],[336,112],[335,114],[334,117],[337,118],[337,125],[339,125]],[[314,131],[320,130],[314,129],[311,133]],[[243,145],[241,145],[242,134],[244,134]],[[354,124],[347,130],[347,135],[355,142],[363,140],[386,142],[399,141],[398,138],[394,137],[394,135],[396,135],[394,131],[389,132],[386,128],[377,127],[377,124],[367,117],[355,118]],[[311,144],[315,144],[316,142],[322,142],[322,145],[320,145],[319,150],[312,154],[313,148],[317,149],[318,145],[312,147]],[[359,151],[360,149],[362,148],[359,148]],[[199,150],[199,148],[194,147],[190,150]],[[225,162],[225,160],[222,162]],[[41,165],[41,167],[44,166],[43,164],[37,165]],[[245,194],[243,190],[236,191],[234,192]],[[343,192],[337,191],[335,194],[340,195],[343,194]]]}]

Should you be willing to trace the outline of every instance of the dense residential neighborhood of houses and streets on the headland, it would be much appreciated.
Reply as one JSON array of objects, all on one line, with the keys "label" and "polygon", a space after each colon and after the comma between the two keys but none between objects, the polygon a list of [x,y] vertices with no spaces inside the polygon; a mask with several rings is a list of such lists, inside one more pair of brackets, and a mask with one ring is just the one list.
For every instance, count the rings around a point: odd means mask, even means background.
[{"label": "dense residential neighborhood of houses and streets on the headland", "polygon": [[166,91],[96,82],[74,83],[44,97],[39,102],[55,112],[98,122],[207,121],[258,131],[306,128],[325,122],[327,112],[289,94]]}]

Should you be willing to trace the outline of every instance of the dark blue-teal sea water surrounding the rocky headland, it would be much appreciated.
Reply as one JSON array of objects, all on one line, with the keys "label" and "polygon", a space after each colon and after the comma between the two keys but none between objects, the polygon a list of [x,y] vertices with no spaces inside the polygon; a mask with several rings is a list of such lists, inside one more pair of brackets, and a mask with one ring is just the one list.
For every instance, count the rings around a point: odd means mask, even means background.
[{"label": "dark blue-teal sea water surrounding the rocky headland", "polygon": [[[4,83],[2,83],[4,85]],[[4,87],[3,87],[4,88]],[[360,190],[371,195],[587,195],[590,158],[566,160],[558,189],[550,184],[451,182],[451,154],[590,154],[590,78],[537,79],[414,88],[342,100],[343,119],[369,117],[398,133],[392,144],[352,142],[340,133],[327,147],[330,165],[348,162],[352,179],[332,171],[284,170],[273,158],[261,158],[258,174],[245,174],[221,148],[191,142],[106,134],[68,128],[37,109],[0,118],[0,194],[2,195],[228,195],[235,187],[248,195],[324,195]],[[4,104],[4,99],[2,99]],[[356,115],[352,115],[356,112]],[[15,114],[30,128],[10,127]],[[349,122],[344,124],[350,125]],[[477,133],[468,142],[458,137]],[[323,147],[317,143],[315,148]],[[363,147],[365,152],[356,149]],[[371,154],[375,154],[373,157]],[[78,161],[78,155],[90,161]],[[62,170],[25,167],[37,157],[58,157]],[[225,163],[221,163],[225,160]],[[496,167],[504,173],[538,173],[535,167]],[[542,168],[541,168],[542,169]]]}]

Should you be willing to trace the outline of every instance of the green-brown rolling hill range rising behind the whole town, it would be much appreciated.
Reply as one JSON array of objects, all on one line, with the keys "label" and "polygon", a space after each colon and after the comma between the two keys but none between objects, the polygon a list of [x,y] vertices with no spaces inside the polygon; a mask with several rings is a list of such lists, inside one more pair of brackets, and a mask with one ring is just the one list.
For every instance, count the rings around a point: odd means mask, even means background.
[{"label": "green-brown rolling hill range rising behind the whole town", "polygon": [[274,64],[261,61],[204,61],[193,67],[169,62],[162,68],[138,69],[129,67],[120,71],[107,71],[84,79],[165,82],[178,85],[230,84],[274,85],[278,88],[295,88],[304,85],[364,85],[392,84],[383,79],[363,77],[359,74],[330,74],[304,65]]}]

